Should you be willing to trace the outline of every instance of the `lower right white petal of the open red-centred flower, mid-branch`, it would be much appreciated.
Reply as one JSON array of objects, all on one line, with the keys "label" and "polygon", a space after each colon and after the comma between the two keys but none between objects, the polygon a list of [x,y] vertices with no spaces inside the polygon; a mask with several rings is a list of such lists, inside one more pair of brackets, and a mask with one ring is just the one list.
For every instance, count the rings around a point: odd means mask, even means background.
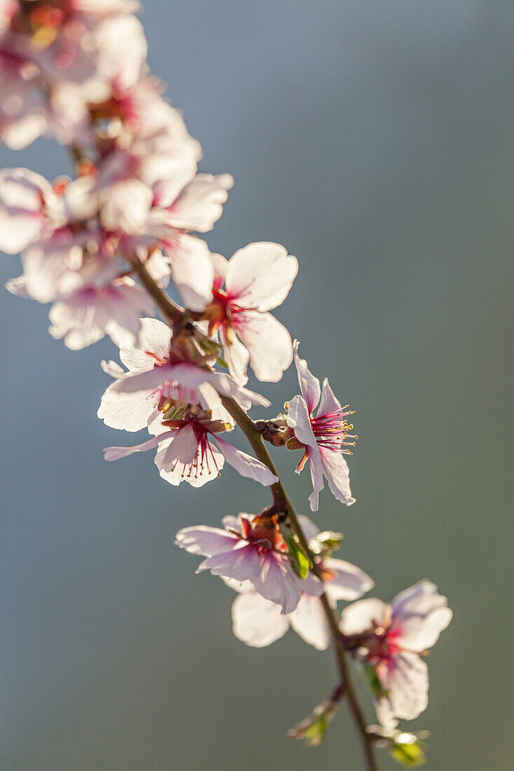
[{"label": "lower right white petal of the open red-centred flower, mid-branch", "polygon": [[279,382],[293,361],[293,342],[286,327],[271,313],[248,311],[237,319],[238,335],[248,349],[255,377]]}]

